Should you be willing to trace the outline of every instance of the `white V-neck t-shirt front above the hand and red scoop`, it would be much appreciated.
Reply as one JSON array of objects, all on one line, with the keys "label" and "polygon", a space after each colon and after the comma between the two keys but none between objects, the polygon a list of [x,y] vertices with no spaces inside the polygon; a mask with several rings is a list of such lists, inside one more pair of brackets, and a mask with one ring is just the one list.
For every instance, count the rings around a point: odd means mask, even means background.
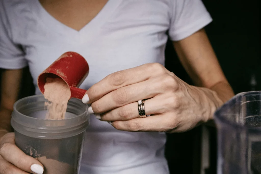
[{"label": "white V-neck t-shirt front above the hand and red scoop", "polygon": [[82,88],[88,88],[119,70],[151,62],[164,64],[169,7],[163,2],[109,0],[80,31],[35,3],[32,15],[21,15],[24,28],[16,33],[16,42],[25,50],[35,84],[37,76],[62,53],[80,53],[90,66],[82,83]]}]

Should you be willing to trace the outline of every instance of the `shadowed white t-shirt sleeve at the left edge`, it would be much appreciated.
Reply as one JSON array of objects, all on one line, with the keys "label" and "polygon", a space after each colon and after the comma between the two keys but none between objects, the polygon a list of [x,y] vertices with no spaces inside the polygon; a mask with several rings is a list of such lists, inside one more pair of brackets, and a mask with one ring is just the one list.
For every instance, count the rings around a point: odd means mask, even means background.
[{"label": "shadowed white t-shirt sleeve at the left edge", "polygon": [[4,1],[0,0],[0,68],[20,69],[27,66],[25,53],[20,45],[15,44]]}]

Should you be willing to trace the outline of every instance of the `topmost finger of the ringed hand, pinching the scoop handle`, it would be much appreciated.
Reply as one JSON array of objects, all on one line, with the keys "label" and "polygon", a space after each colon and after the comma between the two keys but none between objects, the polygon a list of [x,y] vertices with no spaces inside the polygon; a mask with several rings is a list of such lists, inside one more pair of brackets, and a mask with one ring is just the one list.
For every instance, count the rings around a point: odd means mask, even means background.
[{"label": "topmost finger of the ringed hand, pinching the scoop handle", "polygon": [[114,91],[115,89],[142,82],[150,79],[151,77],[156,77],[166,73],[173,74],[159,63],[148,63],[135,68],[112,73],[88,89],[86,94],[89,101],[84,101],[92,103],[93,101],[100,99],[103,95]]}]

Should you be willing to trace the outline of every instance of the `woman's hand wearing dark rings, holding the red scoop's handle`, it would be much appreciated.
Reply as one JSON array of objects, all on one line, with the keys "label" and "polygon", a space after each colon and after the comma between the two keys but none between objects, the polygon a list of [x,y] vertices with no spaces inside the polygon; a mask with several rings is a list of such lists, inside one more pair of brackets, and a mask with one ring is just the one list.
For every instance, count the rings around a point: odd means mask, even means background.
[{"label": "woman's hand wearing dark rings, holding the red scoop's handle", "polygon": [[[212,119],[222,105],[216,92],[188,85],[159,63],[118,71],[94,84],[83,102],[118,130],[182,132]],[[145,99],[140,118],[138,100]]]}]

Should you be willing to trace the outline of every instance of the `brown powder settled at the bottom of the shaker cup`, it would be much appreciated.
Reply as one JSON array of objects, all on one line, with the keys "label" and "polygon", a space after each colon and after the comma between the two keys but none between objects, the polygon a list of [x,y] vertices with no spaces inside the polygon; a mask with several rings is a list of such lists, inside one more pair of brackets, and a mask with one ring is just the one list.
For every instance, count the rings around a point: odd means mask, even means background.
[{"label": "brown powder settled at the bottom of the shaker cup", "polygon": [[44,174],[72,174],[74,168],[72,165],[63,163],[46,157],[37,158],[44,165]]}]

